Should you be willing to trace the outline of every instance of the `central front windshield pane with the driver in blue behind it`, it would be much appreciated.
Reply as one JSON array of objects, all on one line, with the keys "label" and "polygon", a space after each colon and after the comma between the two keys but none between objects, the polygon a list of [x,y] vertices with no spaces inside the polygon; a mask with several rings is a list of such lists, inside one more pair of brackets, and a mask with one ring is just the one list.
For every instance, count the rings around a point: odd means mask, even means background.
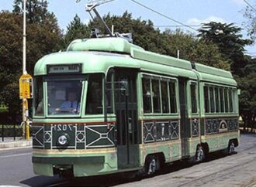
[{"label": "central front windshield pane with the driver in blue behind it", "polygon": [[48,115],[79,115],[81,88],[81,80],[48,81]]}]

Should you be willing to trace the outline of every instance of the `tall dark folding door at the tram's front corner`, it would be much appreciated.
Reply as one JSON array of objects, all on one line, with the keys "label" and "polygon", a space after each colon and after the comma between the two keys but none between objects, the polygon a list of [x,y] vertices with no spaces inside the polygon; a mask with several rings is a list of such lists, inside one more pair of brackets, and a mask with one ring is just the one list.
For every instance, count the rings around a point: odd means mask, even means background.
[{"label": "tall dark folding door at the tram's front corner", "polygon": [[118,168],[139,165],[136,80],[134,70],[115,70],[115,82],[119,84],[115,91]]}]

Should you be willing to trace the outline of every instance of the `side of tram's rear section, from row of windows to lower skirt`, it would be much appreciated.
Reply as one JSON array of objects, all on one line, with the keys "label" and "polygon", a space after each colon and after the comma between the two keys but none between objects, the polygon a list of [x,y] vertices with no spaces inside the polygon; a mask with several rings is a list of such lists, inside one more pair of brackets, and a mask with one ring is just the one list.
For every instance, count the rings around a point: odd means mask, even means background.
[{"label": "side of tram's rear section, from row of windows to lower skirt", "polygon": [[227,148],[230,140],[238,141],[237,88],[204,84],[202,97],[205,111],[202,141],[207,142],[209,151]]}]

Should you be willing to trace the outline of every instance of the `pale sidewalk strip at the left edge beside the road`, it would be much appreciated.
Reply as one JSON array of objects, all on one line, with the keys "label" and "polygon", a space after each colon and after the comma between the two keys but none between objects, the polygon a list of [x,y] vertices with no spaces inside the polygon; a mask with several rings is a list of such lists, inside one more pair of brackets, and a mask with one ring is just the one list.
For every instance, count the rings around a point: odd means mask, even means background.
[{"label": "pale sidewalk strip at the left edge beside the road", "polygon": [[24,140],[21,137],[16,137],[16,140],[13,140],[11,137],[7,137],[4,141],[2,141],[2,138],[0,138],[0,150],[4,148],[29,148],[31,146],[32,138],[30,138],[29,141]]}]

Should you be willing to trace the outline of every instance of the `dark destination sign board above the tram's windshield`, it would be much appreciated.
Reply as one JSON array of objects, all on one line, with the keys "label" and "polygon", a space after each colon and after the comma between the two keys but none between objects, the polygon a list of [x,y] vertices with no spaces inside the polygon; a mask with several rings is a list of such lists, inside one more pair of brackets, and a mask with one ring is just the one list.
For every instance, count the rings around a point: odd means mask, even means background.
[{"label": "dark destination sign board above the tram's windshield", "polygon": [[81,73],[81,64],[48,65],[47,72],[54,73]]}]

